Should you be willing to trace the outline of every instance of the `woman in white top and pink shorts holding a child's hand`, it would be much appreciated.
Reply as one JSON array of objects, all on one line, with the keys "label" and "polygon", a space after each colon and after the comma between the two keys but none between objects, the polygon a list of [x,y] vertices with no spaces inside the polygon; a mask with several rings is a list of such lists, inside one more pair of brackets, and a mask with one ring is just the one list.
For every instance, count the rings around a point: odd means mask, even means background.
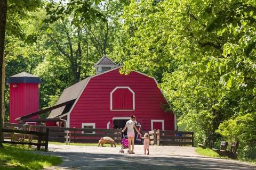
[{"label": "woman in white top and pink shorts holding a child's hand", "polygon": [[[131,115],[131,120],[126,122],[125,127],[122,130],[122,132],[124,132],[125,129],[127,128],[127,137],[129,141],[129,154],[134,154],[134,137],[135,137],[134,128],[139,133],[139,135],[141,135],[141,133],[139,132],[139,130],[137,129],[134,123],[135,119],[136,117],[134,115]],[[131,152],[131,145],[132,145],[132,152]]]}]

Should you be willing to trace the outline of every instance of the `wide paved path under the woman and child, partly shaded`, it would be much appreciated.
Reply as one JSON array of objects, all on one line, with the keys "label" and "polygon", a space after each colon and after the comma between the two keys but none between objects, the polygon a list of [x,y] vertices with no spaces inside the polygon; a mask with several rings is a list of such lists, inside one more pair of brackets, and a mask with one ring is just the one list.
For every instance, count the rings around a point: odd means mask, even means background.
[{"label": "wide paved path under the woman and child, partly shaded", "polygon": [[119,147],[49,145],[50,154],[62,157],[63,163],[46,169],[256,169],[254,165],[234,160],[199,156],[192,147],[150,146],[150,155],[144,155],[142,147],[135,146],[135,155],[132,155],[119,154]]}]

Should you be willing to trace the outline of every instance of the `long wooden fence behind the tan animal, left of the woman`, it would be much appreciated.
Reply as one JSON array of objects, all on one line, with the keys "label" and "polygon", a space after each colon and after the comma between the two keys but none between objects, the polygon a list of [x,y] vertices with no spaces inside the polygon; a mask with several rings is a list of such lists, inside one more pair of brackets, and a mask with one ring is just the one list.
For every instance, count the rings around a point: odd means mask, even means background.
[{"label": "long wooden fence behind the tan animal, left of the woman", "polygon": [[[23,124],[5,123],[5,126],[21,128]],[[91,128],[61,128],[58,126],[25,125],[37,130],[39,128],[49,129],[49,141],[55,142],[79,142],[79,143],[98,143],[102,137],[110,137],[116,143],[122,139],[122,129],[91,129]],[[37,140],[37,138],[35,138]]]}]

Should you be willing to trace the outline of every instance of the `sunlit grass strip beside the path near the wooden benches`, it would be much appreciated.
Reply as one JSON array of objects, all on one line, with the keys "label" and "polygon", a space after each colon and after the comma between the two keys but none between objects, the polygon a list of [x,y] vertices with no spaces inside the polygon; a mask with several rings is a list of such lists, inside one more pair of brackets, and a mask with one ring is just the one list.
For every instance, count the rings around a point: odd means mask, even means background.
[{"label": "sunlit grass strip beside the path near the wooden benches", "polygon": [[[199,155],[203,155],[203,156],[228,159],[228,157],[220,157],[219,154],[217,154],[216,152],[214,152],[213,150],[211,150],[209,148],[203,149],[203,148],[198,147],[196,149],[196,152]],[[241,161],[241,162],[249,162],[249,163],[256,164],[256,159],[245,159],[245,158],[239,157],[239,155],[238,155],[238,159],[237,160]]]}]

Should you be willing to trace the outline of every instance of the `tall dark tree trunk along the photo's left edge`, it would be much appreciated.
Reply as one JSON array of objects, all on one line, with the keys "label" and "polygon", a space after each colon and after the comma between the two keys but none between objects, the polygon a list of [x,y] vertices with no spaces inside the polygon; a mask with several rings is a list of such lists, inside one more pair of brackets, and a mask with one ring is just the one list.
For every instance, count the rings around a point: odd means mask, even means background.
[{"label": "tall dark tree trunk along the photo's left edge", "polygon": [[0,0],[0,82],[1,82],[1,111],[0,111],[0,147],[3,147],[2,139],[4,137],[2,128],[4,126],[4,38],[6,26],[7,0]]}]

